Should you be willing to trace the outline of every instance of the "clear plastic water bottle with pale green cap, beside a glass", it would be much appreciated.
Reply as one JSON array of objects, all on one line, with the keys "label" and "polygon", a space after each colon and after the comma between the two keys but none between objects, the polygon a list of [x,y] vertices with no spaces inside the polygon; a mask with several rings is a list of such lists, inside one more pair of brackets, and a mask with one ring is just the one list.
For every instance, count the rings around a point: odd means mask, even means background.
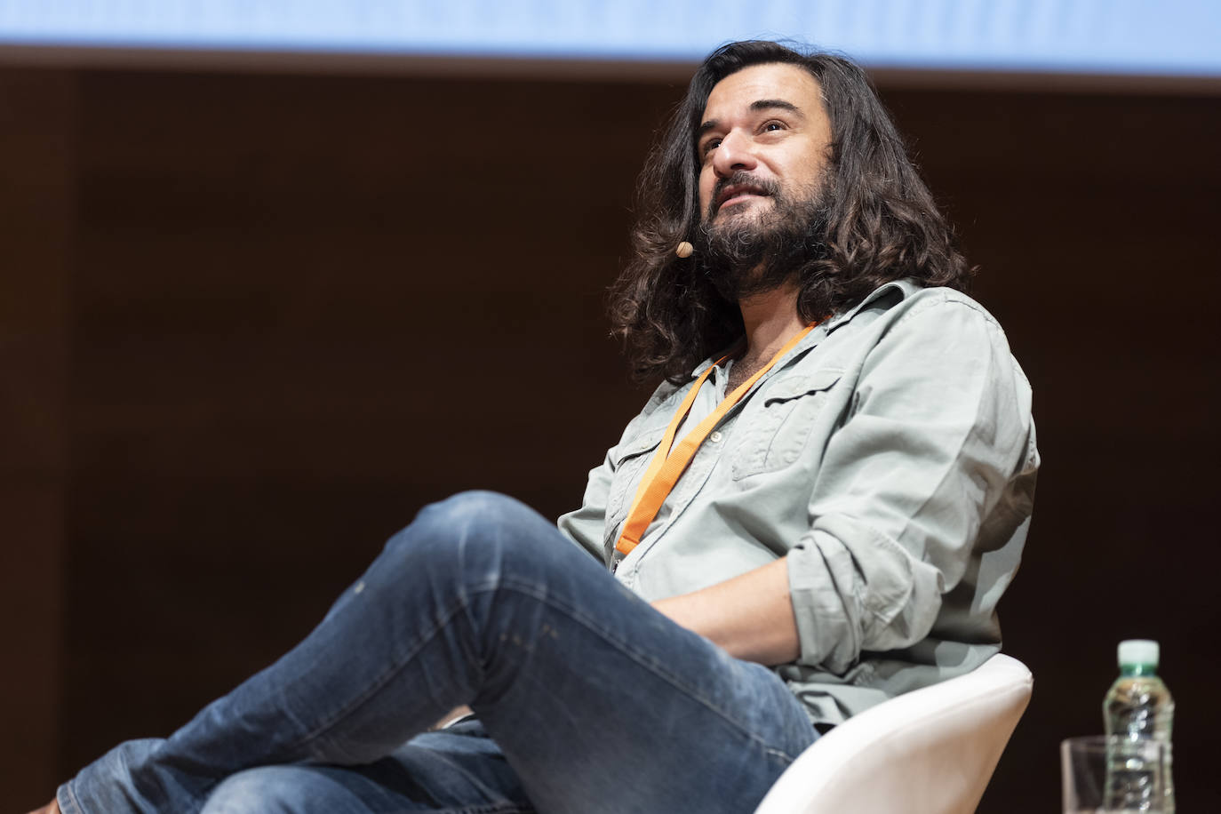
[{"label": "clear plastic water bottle with pale green cap, beside a glass", "polygon": [[[1103,701],[1106,733],[1116,737],[1107,747],[1106,810],[1175,810],[1175,786],[1170,777],[1175,699],[1158,677],[1158,642],[1145,638],[1120,642],[1120,677]],[[1165,743],[1165,765],[1151,765],[1145,759],[1148,755],[1134,746],[1142,740]],[[1126,743],[1133,747],[1126,749]],[[1159,788],[1161,801],[1155,799]]]}]

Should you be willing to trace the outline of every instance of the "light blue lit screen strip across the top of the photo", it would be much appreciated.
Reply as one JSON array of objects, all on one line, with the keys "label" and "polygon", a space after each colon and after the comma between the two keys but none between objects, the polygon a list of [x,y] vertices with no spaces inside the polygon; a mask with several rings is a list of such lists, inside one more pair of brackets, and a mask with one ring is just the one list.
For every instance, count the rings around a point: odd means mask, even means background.
[{"label": "light blue lit screen strip across the top of the photo", "polygon": [[1221,76],[1219,0],[0,0],[0,46],[695,61],[778,35],[872,67]]}]

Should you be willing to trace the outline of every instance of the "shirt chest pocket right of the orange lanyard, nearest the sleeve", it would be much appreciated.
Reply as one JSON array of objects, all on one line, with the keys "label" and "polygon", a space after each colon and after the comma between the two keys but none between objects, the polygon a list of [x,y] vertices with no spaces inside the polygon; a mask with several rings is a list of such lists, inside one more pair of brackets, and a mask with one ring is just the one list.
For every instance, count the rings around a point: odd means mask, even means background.
[{"label": "shirt chest pocket right of the orange lanyard, nearest the sleeve", "polygon": [[730,469],[734,480],[772,472],[801,456],[827,394],[844,375],[823,369],[790,373],[763,386],[737,419]]}]

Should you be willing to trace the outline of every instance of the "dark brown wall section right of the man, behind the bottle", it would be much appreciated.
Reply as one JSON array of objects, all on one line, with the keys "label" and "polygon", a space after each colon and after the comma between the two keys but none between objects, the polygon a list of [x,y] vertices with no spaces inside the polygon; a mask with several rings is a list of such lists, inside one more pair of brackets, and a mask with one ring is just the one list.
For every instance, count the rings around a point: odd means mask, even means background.
[{"label": "dark brown wall section right of the man, behind the bottle", "polygon": [[1029,710],[980,810],[1057,810],[1057,743],[1101,732],[1121,638],[1162,642],[1183,809],[1215,810],[1212,582],[1221,105],[885,94],[1034,386],[1044,466],[1005,647]]}]

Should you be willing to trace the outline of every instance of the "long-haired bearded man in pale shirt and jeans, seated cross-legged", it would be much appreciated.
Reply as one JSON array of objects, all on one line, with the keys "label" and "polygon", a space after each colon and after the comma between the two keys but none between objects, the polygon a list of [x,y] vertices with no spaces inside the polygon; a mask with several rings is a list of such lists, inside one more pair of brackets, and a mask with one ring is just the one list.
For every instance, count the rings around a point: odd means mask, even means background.
[{"label": "long-haired bearded man in pale shirt and jeans, seated cross-legged", "polygon": [[667,381],[559,532],[425,509],[297,648],[49,810],[750,812],[819,731],[999,649],[1029,388],[863,73],[719,49],[641,196],[612,319]]}]

